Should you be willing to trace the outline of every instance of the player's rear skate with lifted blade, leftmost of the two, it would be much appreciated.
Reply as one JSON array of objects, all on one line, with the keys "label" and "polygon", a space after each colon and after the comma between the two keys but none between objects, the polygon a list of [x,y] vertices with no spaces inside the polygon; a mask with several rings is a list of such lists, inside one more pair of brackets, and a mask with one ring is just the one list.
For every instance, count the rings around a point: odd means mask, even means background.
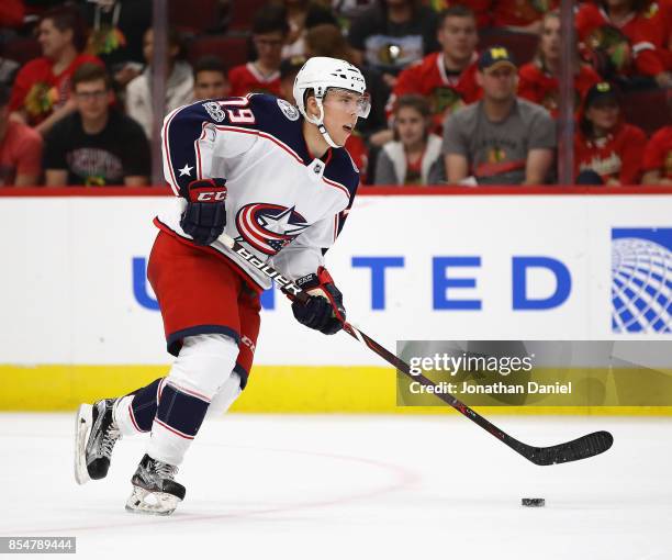
[{"label": "player's rear skate with lifted blade, leftmost of the two", "polygon": [[75,425],[75,480],[85,484],[104,479],[110,469],[112,449],[121,433],[112,414],[115,399],[103,399],[93,405],[82,404]]}]

